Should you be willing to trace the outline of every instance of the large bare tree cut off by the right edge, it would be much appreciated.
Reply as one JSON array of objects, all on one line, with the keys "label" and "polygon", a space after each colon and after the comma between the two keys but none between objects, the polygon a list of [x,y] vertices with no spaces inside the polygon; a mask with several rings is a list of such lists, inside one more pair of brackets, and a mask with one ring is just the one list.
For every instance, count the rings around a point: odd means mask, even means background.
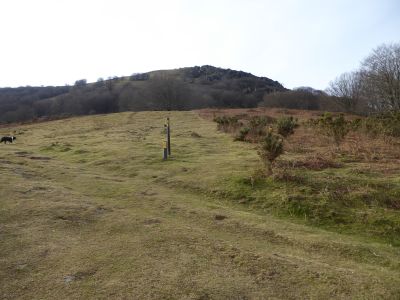
[{"label": "large bare tree cut off by the right edge", "polygon": [[400,109],[400,43],[374,49],[361,67],[364,92],[376,110]]}]

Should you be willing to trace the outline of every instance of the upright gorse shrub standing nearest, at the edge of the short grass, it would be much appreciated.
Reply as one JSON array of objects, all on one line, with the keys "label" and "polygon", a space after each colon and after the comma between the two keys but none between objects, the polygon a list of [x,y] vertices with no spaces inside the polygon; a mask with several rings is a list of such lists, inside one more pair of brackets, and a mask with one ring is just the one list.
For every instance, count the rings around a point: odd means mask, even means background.
[{"label": "upright gorse shrub standing nearest, at the edge of the short grass", "polygon": [[279,135],[268,132],[260,142],[258,155],[264,164],[267,175],[272,174],[274,161],[283,153],[283,140]]}]

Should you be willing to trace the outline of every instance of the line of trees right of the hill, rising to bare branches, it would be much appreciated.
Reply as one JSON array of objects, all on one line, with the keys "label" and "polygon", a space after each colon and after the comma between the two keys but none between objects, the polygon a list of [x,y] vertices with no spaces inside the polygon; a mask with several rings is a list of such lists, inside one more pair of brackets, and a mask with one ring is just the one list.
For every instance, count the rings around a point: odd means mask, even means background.
[{"label": "line of trees right of the hill, rising to bare branches", "polygon": [[383,44],[358,70],[339,75],[325,91],[310,87],[267,93],[266,107],[342,111],[356,114],[400,109],[400,44]]}]

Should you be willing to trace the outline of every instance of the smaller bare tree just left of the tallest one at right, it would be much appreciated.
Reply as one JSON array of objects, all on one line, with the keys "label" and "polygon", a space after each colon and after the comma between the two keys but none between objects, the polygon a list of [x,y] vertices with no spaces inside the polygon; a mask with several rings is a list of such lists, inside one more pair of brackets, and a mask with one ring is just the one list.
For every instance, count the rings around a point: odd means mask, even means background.
[{"label": "smaller bare tree just left of the tallest one at right", "polygon": [[363,83],[360,72],[343,73],[329,83],[326,92],[347,112],[355,112],[362,98]]}]

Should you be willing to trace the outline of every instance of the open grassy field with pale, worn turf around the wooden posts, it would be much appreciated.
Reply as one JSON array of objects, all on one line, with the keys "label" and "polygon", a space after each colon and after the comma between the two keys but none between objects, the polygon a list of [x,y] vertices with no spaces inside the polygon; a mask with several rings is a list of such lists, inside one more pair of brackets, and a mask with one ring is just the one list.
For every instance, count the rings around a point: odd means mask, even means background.
[{"label": "open grassy field with pale, worn turf around the wooden posts", "polygon": [[286,173],[251,185],[255,146],[214,113],[0,128],[17,133],[0,145],[0,298],[399,299],[396,151],[366,162],[348,144],[337,166],[310,169],[328,146],[302,128]]}]

